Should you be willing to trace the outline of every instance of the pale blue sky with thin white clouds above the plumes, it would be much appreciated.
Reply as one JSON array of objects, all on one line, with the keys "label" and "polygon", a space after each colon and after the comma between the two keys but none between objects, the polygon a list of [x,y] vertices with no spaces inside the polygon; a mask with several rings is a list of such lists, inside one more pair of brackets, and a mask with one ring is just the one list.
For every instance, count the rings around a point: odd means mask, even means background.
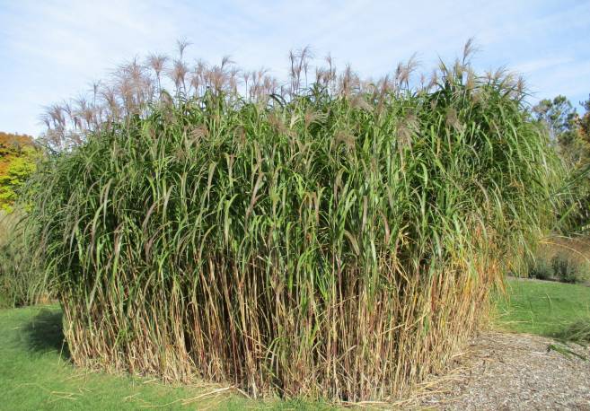
[{"label": "pale blue sky with thin white clouds above the plumes", "polygon": [[0,130],[39,135],[42,107],[86,92],[131,57],[173,53],[265,66],[279,78],[292,48],[328,52],[365,76],[414,52],[425,72],[475,37],[480,69],[524,74],[533,100],[590,93],[590,1],[0,0]]}]

